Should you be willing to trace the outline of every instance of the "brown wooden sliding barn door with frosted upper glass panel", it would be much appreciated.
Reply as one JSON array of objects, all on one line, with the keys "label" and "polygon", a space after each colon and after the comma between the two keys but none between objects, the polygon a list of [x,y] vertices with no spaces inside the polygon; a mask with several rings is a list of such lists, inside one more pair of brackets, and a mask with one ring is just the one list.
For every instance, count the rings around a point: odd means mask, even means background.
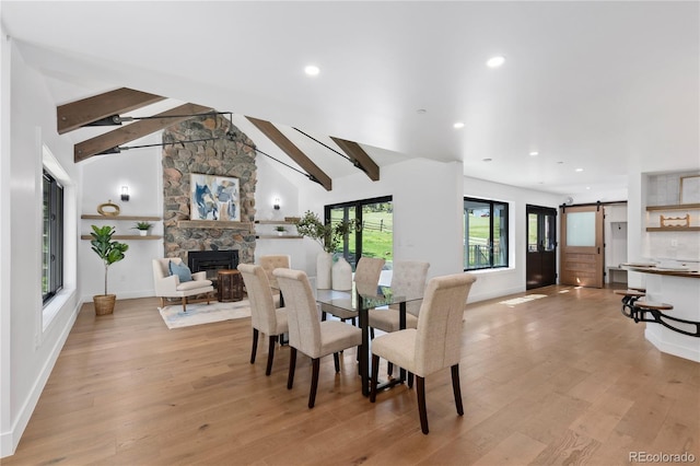
[{"label": "brown wooden sliding barn door with frosted upper glass panel", "polygon": [[603,288],[603,206],[561,208],[560,283]]}]

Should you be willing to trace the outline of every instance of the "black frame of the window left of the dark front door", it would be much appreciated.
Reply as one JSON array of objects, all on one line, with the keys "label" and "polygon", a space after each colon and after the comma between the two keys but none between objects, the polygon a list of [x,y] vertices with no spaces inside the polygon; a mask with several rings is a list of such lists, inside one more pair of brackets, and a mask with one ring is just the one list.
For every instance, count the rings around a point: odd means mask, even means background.
[{"label": "black frame of the window left of the dark front door", "polygon": [[[489,208],[489,237],[488,237],[488,248],[489,248],[489,260],[488,260],[488,266],[479,266],[479,267],[469,267],[469,231],[467,229],[467,215],[468,215],[468,211],[467,211],[467,202],[479,202],[479,203],[485,203],[488,205]],[[501,219],[501,235],[500,238],[498,241],[499,245],[501,247],[504,247],[505,251],[500,254],[501,257],[504,258],[504,263],[503,264],[494,264],[494,258],[495,258],[495,254],[494,254],[494,248],[493,248],[493,244],[494,243],[494,229],[493,229],[493,222],[494,219],[497,218],[497,215],[494,215],[494,211],[497,210],[495,207],[502,206],[501,212],[502,214],[499,214],[498,217]],[[469,197],[469,196],[465,196],[463,198],[463,225],[464,225],[464,246],[463,246],[463,267],[464,267],[464,271],[479,271],[479,270],[492,270],[492,269],[505,269],[510,267],[510,230],[509,230],[509,224],[510,224],[510,206],[506,201],[502,201],[502,200],[495,200],[495,199],[482,199],[482,198],[476,198],[476,197]]]}]

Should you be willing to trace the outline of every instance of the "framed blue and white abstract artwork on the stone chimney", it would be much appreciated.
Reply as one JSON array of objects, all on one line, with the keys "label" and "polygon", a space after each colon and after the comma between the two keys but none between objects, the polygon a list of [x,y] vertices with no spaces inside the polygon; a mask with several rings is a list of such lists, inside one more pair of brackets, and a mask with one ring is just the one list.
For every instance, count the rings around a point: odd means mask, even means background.
[{"label": "framed blue and white abstract artwork on the stone chimney", "polygon": [[241,221],[238,178],[230,176],[190,175],[190,219]]}]

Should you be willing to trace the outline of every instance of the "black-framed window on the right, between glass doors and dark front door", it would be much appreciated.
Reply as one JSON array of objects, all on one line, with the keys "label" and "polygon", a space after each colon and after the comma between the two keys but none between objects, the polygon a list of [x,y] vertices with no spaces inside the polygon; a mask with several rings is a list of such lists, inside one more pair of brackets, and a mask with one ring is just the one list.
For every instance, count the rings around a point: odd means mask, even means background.
[{"label": "black-framed window on the right, between glass doors and dark front door", "polygon": [[464,198],[464,269],[508,267],[508,203]]}]

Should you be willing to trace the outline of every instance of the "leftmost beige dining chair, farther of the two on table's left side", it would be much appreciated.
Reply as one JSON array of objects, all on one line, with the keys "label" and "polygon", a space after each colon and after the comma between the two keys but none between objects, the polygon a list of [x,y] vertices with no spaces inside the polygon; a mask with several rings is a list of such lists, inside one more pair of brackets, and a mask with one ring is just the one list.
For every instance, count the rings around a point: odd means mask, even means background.
[{"label": "leftmost beige dining chair, farther of the two on table's left side", "polygon": [[248,301],[250,302],[250,326],[253,327],[253,347],[250,349],[250,364],[255,363],[258,349],[258,334],[268,336],[267,368],[265,375],[272,372],[275,346],[278,337],[289,331],[287,308],[277,308],[272,298],[270,282],[261,266],[238,264],[243,276]]}]

